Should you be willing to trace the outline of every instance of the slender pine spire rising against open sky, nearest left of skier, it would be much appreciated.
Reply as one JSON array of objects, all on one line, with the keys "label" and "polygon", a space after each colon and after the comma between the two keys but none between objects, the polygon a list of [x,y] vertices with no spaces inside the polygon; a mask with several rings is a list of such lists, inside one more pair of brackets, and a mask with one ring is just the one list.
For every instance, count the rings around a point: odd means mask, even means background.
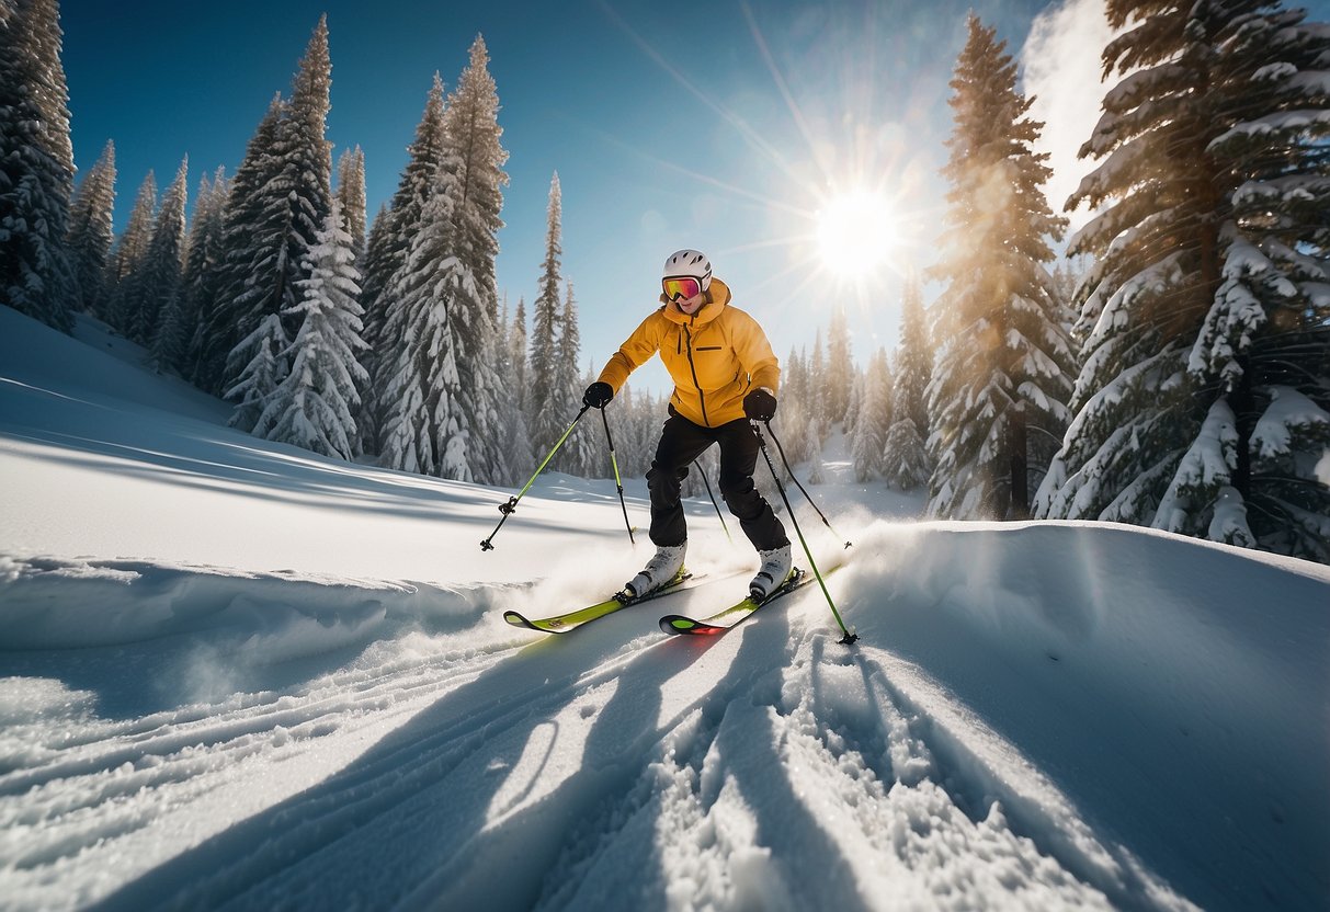
[{"label": "slender pine spire rising against open sky, nearest left of skier", "polygon": [[[568,421],[572,420],[572,416],[567,413],[567,403],[560,400],[559,387],[559,286],[563,285],[560,257],[564,253],[560,242],[561,213],[563,190],[559,186],[559,173],[556,171],[549,181],[545,259],[540,263],[540,286],[532,306],[527,427],[537,461],[553,448],[559,437],[568,429]],[[581,401],[580,396],[577,401]]]}]

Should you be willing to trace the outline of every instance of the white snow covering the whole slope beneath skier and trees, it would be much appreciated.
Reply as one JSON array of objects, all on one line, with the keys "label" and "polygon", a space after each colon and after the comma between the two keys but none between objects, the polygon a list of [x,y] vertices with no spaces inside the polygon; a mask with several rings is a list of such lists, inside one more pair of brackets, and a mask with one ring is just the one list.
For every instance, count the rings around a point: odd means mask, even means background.
[{"label": "white snow covering the whole slope beneath skier and trees", "polygon": [[141,355],[0,308],[7,909],[1330,901],[1327,568],[912,522],[833,448],[854,546],[799,518],[853,647],[817,586],[658,633],[754,566],[705,501],[714,581],[547,638],[501,610],[649,553],[612,483],[543,476],[481,553],[511,491],[250,437]]}]

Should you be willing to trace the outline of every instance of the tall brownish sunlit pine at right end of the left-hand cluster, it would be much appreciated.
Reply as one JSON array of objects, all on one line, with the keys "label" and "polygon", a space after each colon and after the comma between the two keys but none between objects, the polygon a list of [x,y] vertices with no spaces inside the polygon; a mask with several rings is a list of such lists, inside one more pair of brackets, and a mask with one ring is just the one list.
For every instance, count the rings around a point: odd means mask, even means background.
[{"label": "tall brownish sunlit pine at right end of the left-hand cluster", "polygon": [[[508,378],[495,370],[499,340],[499,292],[495,257],[503,219],[503,165],[508,152],[500,138],[499,92],[488,69],[489,53],[481,36],[471,44],[469,61],[448,96],[443,113],[444,142],[450,146],[439,169],[451,169],[452,179],[440,186],[456,194],[450,233],[452,253],[472,283],[456,286],[452,298],[454,340],[458,344],[459,395],[463,427],[469,435],[472,472],[481,484],[515,484],[516,477],[503,447],[504,403]],[[473,290],[472,290],[473,288]]]}]

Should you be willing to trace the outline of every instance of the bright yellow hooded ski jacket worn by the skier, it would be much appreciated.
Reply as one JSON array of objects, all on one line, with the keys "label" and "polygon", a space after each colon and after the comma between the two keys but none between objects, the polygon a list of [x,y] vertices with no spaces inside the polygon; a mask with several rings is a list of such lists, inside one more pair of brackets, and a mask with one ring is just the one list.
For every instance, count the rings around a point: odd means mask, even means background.
[{"label": "bright yellow hooded ski jacket worn by the skier", "polygon": [[720,279],[712,279],[706,294],[692,316],[673,304],[650,314],[605,364],[600,382],[617,394],[628,375],[658,351],[674,380],[674,411],[709,428],[743,417],[750,390],[766,387],[774,394],[781,366],[766,332],[730,306],[730,288]]}]

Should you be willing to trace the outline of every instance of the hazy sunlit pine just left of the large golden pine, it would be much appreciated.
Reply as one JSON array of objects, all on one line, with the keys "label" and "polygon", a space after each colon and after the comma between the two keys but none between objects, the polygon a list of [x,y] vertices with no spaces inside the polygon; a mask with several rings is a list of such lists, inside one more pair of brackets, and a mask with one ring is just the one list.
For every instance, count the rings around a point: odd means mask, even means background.
[{"label": "hazy sunlit pine just left of the large golden pine", "polygon": [[883,444],[882,477],[900,491],[914,491],[932,476],[928,437],[928,382],[932,344],[916,275],[906,279],[900,302],[900,344],[892,387],[892,421]]}]

